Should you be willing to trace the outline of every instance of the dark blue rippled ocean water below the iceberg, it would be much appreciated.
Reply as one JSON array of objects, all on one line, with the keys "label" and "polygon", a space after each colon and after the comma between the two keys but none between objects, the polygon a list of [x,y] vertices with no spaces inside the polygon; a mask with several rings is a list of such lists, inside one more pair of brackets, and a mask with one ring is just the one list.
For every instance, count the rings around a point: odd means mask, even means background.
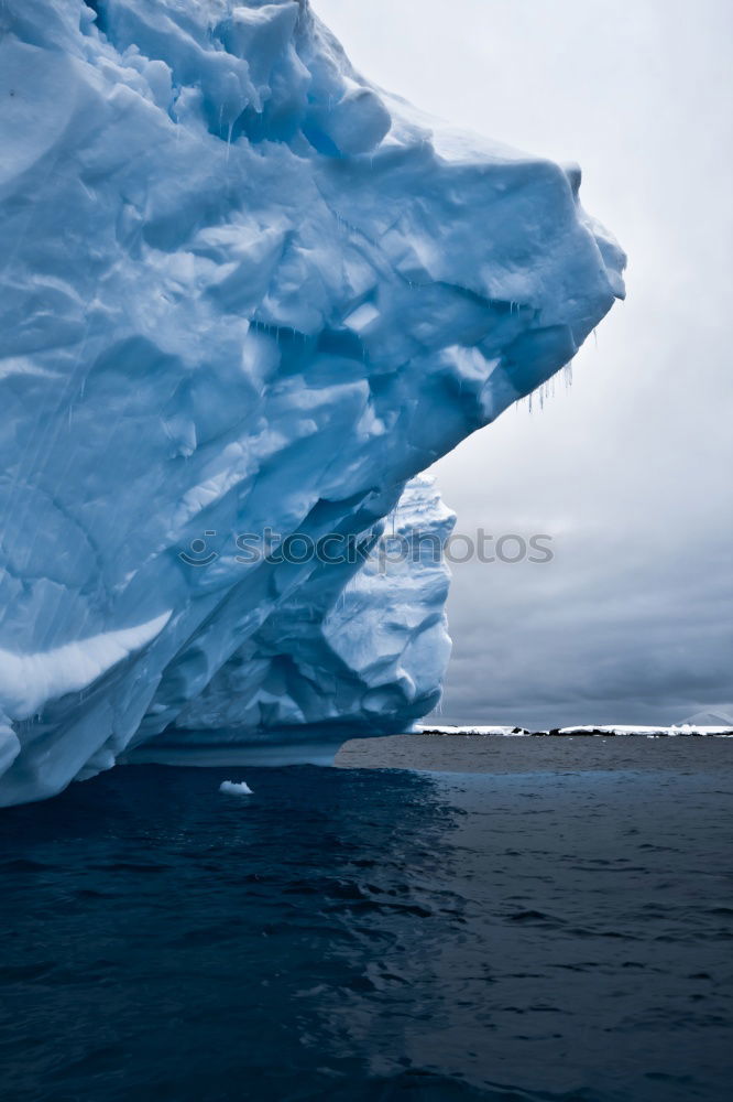
[{"label": "dark blue rippled ocean water below the iceberg", "polygon": [[722,1102],[733,744],[686,742],[532,771],[526,739],[500,775],[128,767],[0,812],[0,1089]]}]

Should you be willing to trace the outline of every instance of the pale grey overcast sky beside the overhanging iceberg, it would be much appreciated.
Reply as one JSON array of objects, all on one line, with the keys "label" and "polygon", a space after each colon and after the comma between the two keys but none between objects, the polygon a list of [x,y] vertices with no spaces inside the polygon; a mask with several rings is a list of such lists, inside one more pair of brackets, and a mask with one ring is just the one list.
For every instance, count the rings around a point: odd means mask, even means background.
[{"label": "pale grey overcast sky beside the overhanging iceberg", "polygon": [[583,169],[630,256],[540,411],[434,467],[471,532],[549,564],[453,568],[445,722],[733,714],[730,0],[314,0],[365,76]]}]

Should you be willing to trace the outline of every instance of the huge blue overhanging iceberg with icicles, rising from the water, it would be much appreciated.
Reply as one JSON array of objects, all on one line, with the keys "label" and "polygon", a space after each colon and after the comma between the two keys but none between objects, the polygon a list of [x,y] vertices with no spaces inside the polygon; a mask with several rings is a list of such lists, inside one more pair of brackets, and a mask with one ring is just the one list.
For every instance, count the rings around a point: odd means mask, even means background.
[{"label": "huge blue overhanging iceberg with icicles, rising from the water", "polygon": [[307,0],[3,0],[0,97],[0,803],[405,730],[445,565],[237,536],[445,542],[420,473],[623,296],[580,170],[372,86]]}]

